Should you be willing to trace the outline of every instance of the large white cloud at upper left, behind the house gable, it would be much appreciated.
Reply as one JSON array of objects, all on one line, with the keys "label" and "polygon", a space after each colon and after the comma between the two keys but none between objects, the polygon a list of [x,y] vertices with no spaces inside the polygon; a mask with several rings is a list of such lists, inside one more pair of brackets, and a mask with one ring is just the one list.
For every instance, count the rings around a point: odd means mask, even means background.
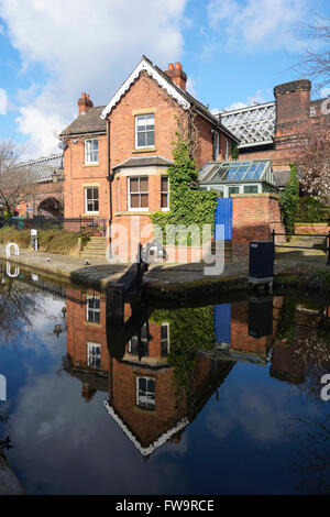
[{"label": "large white cloud at upper left, behind the house gable", "polygon": [[0,0],[22,69],[41,64],[48,74],[42,91],[18,118],[20,131],[31,132],[31,152],[56,151],[53,131],[77,114],[81,91],[103,105],[142,54],[163,67],[178,61],[186,1],[99,0],[96,6],[94,0]]}]

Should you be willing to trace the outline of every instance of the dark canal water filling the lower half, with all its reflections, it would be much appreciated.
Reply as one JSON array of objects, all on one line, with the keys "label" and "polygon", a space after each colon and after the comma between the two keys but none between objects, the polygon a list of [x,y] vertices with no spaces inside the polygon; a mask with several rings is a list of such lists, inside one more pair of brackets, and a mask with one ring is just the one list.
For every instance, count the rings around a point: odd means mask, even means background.
[{"label": "dark canal water filling the lower half, with all its reflections", "polygon": [[116,323],[105,294],[0,278],[0,458],[25,493],[329,494],[326,301],[128,305]]}]

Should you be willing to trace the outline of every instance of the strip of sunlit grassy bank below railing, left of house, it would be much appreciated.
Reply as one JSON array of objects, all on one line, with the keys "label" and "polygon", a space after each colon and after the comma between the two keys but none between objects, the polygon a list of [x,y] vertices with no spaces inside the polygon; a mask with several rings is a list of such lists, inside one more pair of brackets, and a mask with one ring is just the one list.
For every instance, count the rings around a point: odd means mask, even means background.
[{"label": "strip of sunlit grassy bank below railing, left of house", "polygon": [[[38,251],[41,252],[79,255],[79,243],[81,242],[81,245],[84,246],[88,240],[88,235],[80,233],[58,230],[37,231]],[[14,242],[23,249],[30,249],[30,230],[14,230],[8,227],[2,228],[0,230],[0,244],[8,244],[9,242]]]}]

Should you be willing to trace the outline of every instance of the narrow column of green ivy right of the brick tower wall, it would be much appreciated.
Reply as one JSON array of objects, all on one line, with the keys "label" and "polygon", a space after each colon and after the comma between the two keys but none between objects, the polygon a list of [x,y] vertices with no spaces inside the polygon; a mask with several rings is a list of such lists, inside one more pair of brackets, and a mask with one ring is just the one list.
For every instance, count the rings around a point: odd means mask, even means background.
[{"label": "narrow column of green ivy right of the brick tower wall", "polygon": [[286,233],[294,233],[299,208],[299,180],[294,164],[290,164],[290,177],[280,195],[279,207]]}]

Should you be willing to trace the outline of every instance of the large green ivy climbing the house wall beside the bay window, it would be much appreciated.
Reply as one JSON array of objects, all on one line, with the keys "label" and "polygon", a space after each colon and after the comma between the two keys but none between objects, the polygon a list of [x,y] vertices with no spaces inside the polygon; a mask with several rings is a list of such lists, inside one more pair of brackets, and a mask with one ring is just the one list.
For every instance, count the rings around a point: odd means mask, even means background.
[{"label": "large green ivy climbing the house wall beside the bay window", "polygon": [[189,135],[185,136],[177,131],[176,136],[177,141],[173,142],[174,164],[168,168],[169,211],[151,216],[153,223],[163,231],[165,242],[167,224],[197,224],[199,229],[204,224],[213,226],[217,208],[217,193],[198,189],[198,172],[190,155]]}]

